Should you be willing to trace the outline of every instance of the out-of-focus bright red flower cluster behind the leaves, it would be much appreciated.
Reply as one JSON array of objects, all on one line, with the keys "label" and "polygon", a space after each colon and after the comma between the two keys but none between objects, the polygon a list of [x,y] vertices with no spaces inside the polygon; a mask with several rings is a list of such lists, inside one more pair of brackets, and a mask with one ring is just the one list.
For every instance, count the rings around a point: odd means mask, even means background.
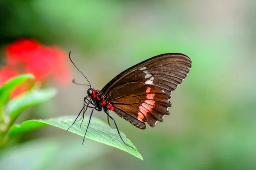
[{"label": "out-of-focus bright red flower cluster behind the leaves", "polygon": [[67,85],[71,72],[67,54],[61,48],[41,45],[34,40],[20,39],[5,49],[6,66],[0,68],[0,85],[17,74],[31,73],[36,81],[53,78],[59,85]]}]

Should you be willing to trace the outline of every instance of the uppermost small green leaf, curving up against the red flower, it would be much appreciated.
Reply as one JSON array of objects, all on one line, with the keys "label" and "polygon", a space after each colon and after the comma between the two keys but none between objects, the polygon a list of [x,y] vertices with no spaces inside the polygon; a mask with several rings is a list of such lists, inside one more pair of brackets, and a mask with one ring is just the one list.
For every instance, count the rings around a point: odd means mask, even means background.
[{"label": "uppermost small green leaf, curving up against the red flower", "polygon": [[10,79],[0,87],[0,108],[7,103],[12,91],[27,79],[34,79],[34,76],[32,74],[22,74]]}]

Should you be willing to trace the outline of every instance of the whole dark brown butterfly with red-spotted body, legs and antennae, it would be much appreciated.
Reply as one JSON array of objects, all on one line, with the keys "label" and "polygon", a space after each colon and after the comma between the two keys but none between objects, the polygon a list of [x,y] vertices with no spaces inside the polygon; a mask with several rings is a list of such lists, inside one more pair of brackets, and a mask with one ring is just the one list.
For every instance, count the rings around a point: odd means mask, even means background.
[{"label": "whole dark brown butterfly with red-spotted body, legs and antennae", "polygon": [[[69,58],[73,63],[70,54]],[[73,65],[76,67],[74,63]],[[102,90],[92,88],[89,80],[76,67],[87,79],[89,82],[87,86],[90,87],[87,90],[87,96],[84,97],[84,106],[79,112],[80,115],[83,111],[84,119],[87,108],[92,108],[84,137],[94,110],[103,110],[108,116],[109,125],[109,118],[113,120],[121,139],[116,121],[110,116],[109,111],[113,111],[139,129],[145,129],[146,124],[154,127],[158,121],[163,122],[163,116],[170,114],[168,108],[171,107],[169,102],[171,93],[186,78],[191,66],[191,59],[184,54],[160,54],[118,74]],[[74,80],[73,83],[81,85]],[[79,115],[70,127],[74,125]],[[123,139],[122,142],[131,147]]]}]

